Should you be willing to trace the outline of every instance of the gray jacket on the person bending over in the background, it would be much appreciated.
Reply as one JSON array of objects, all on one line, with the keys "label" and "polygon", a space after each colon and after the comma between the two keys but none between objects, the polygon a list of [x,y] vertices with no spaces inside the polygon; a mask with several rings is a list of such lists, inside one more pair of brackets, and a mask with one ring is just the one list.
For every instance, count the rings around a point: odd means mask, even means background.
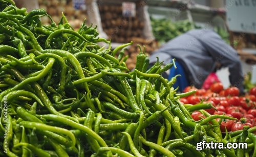
[{"label": "gray jacket on the person bending over in the background", "polygon": [[243,72],[237,51],[226,44],[213,30],[191,30],[168,41],[150,57],[150,62],[169,63],[171,57],[183,65],[187,79],[201,88],[206,77],[217,62],[229,68],[229,81],[232,86],[243,90]]}]

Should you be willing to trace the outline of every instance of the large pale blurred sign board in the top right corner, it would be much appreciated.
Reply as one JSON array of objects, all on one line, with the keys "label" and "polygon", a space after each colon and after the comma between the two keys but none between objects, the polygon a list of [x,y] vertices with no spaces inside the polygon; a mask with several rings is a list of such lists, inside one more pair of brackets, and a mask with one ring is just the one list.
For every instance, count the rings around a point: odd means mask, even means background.
[{"label": "large pale blurred sign board in the top right corner", "polygon": [[231,31],[256,34],[256,0],[227,0],[226,10]]}]

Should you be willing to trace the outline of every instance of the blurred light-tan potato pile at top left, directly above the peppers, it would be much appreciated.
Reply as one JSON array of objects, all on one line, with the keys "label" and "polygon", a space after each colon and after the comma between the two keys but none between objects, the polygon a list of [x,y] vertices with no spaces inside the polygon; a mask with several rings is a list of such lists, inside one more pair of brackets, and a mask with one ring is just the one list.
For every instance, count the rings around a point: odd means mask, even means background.
[{"label": "blurred light-tan potato pile at top left, directly above the peppers", "polygon": [[[83,20],[87,18],[87,11],[76,10],[73,7],[72,0],[38,0],[38,3],[39,8],[45,9],[56,23],[60,21],[62,17],[61,12],[63,12],[74,29],[78,29]],[[42,17],[41,21],[44,24],[50,23],[47,16]]]}]

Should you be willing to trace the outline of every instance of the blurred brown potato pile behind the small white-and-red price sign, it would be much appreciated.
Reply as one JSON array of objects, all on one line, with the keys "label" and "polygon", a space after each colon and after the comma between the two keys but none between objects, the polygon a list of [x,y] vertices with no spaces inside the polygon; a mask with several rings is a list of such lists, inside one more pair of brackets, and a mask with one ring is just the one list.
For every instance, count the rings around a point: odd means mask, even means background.
[{"label": "blurred brown potato pile behind the small white-and-red price sign", "polygon": [[[137,6],[136,6],[137,7]],[[136,8],[136,13],[139,8]],[[144,22],[135,17],[123,17],[121,5],[99,5],[102,28],[112,42],[130,42],[132,37],[142,37]]]}]

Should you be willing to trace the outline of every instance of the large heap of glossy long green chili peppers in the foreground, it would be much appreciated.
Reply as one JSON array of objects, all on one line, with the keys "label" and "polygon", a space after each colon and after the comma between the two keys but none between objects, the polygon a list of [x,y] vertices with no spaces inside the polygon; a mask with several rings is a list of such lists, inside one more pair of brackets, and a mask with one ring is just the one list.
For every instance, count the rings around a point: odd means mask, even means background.
[{"label": "large heap of glossy long green chili peppers in the foreground", "polygon": [[[148,68],[141,49],[127,69],[127,43],[111,49],[96,28],[74,31],[65,15],[42,25],[43,9],[27,12],[0,0],[0,156],[255,156],[256,127],[223,134],[209,104],[183,106],[172,64]],[[98,42],[109,44],[108,48]],[[118,56],[115,58],[115,56]],[[206,118],[194,121],[198,110]],[[248,149],[202,149],[198,142],[246,142]]]}]

